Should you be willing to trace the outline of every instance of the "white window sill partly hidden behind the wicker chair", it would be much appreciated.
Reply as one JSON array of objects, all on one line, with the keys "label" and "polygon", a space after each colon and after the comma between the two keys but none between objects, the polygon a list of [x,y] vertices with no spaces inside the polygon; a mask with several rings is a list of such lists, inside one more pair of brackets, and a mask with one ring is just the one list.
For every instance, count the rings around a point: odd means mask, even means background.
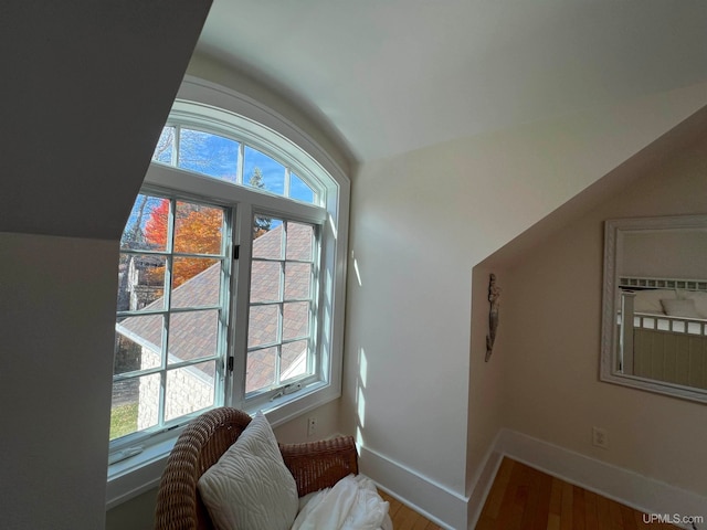
[{"label": "white window sill partly hidden behind the wicker chair", "polygon": [[[271,403],[268,407],[260,407],[273,427],[287,423],[318,406],[340,396],[340,389],[331,384],[316,383],[307,389],[308,392],[297,399],[283,396]],[[246,410],[253,415],[255,410]],[[170,436],[129,458],[108,466],[106,485],[106,510],[126,502],[145,491],[159,486],[167,458],[172,451],[183,427],[170,433]]]}]

